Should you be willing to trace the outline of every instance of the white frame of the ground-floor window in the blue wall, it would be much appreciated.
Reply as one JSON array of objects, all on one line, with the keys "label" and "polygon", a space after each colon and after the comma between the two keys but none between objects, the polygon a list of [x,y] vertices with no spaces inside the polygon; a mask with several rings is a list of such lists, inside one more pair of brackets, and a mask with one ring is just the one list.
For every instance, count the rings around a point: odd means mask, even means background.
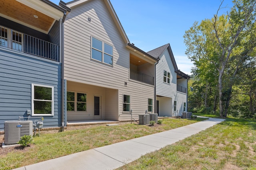
[{"label": "white frame of the ground-floor window in the blue wall", "polygon": [[[52,88],[52,100],[39,100],[39,99],[34,99],[34,86],[40,86],[40,87],[47,87],[47,88]],[[32,92],[32,116],[53,116],[54,115],[54,86],[48,86],[48,85],[42,85],[42,84],[33,84],[31,87],[31,92]],[[34,101],[46,101],[46,102],[52,102],[52,113],[51,114],[35,114],[34,113]]]}]

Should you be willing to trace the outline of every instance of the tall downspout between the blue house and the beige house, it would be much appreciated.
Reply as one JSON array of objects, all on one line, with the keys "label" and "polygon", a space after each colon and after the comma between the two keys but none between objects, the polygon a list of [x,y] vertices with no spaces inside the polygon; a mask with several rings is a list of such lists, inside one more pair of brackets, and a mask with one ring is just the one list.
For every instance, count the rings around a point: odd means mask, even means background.
[{"label": "tall downspout between the blue house and the beige house", "polygon": [[62,64],[61,64],[61,80],[62,80],[62,89],[61,89],[61,93],[62,93],[62,98],[61,98],[61,125],[62,125],[62,131],[64,131],[64,127],[65,127],[65,117],[64,117],[64,21],[66,19],[66,12],[64,12],[64,16],[62,18],[62,27],[61,27],[61,60],[62,60]]}]

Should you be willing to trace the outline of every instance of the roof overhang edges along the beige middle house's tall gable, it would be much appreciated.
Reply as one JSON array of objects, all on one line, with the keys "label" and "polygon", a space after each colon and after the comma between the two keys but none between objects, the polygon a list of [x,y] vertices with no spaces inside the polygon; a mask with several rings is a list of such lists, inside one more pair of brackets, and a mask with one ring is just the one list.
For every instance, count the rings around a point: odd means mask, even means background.
[{"label": "roof overhang edges along the beige middle house's tall gable", "polygon": [[[93,0],[73,0],[71,2],[67,2],[66,6],[68,6],[69,8],[72,9],[75,6],[80,6],[86,2],[91,2],[91,1],[93,1]],[[116,12],[115,12],[110,0],[102,0],[102,1],[106,4],[108,11],[110,12],[112,19],[114,20],[114,23],[116,24],[116,27],[117,27],[118,31],[120,32],[122,39],[124,40],[124,42],[126,44],[130,43],[130,41],[124,31],[124,28],[123,28],[122,24],[120,23],[118,16],[116,15]]]}]

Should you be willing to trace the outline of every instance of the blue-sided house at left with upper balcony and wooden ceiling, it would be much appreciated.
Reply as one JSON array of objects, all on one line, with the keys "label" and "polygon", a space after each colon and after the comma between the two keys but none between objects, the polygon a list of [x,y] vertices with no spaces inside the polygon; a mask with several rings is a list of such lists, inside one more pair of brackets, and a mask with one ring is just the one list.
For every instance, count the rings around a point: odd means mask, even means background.
[{"label": "blue-sided house at left with upper balcony and wooden ceiling", "polygon": [[66,10],[48,0],[1,0],[0,132],[4,121],[43,116],[60,127],[62,19]]}]

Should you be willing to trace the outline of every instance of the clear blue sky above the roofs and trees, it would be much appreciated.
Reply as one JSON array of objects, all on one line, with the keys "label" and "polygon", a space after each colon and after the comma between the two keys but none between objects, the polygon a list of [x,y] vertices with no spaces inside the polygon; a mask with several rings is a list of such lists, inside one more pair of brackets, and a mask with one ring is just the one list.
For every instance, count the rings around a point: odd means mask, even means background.
[{"label": "clear blue sky above the roofs and trees", "polygon": [[[58,4],[59,0],[51,0]],[[71,0],[70,0],[71,1]],[[64,0],[64,2],[70,2]],[[110,0],[131,43],[150,51],[170,43],[178,69],[191,74],[193,63],[185,55],[183,35],[195,21],[210,19],[221,0]],[[224,0],[219,14],[233,6]]]}]

